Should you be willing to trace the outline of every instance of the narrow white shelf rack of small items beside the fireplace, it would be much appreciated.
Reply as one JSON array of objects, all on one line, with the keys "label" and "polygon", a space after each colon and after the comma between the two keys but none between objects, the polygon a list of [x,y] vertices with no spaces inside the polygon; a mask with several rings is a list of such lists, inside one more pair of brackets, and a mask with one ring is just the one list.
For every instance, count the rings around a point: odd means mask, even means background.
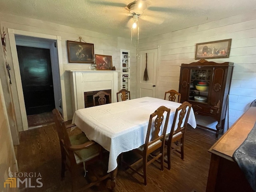
[{"label": "narrow white shelf rack of small items beside the fireplace", "polygon": [[121,86],[120,89],[130,90],[130,51],[120,50]]}]

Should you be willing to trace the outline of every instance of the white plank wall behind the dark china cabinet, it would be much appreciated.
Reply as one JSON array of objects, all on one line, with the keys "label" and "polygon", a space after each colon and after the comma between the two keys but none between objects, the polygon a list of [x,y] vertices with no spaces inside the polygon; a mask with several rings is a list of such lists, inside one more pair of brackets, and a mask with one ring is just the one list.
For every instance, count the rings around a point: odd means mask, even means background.
[{"label": "white plank wall behind the dark china cabinet", "polygon": [[256,11],[141,39],[140,50],[160,46],[156,97],[178,90],[180,64],[195,61],[196,43],[229,38],[230,57],[211,60],[235,65],[229,96],[231,126],[256,99]]}]

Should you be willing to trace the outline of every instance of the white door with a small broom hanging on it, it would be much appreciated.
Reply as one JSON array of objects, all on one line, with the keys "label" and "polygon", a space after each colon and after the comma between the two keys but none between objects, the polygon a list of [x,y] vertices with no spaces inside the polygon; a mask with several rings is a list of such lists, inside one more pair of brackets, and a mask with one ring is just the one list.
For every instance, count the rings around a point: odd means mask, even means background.
[{"label": "white door with a small broom hanging on it", "polygon": [[[140,51],[139,71],[138,71],[138,98],[156,97],[156,64],[157,49]],[[148,81],[144,81],[144,72],[146,68],[147,54],[147,72]]]}]

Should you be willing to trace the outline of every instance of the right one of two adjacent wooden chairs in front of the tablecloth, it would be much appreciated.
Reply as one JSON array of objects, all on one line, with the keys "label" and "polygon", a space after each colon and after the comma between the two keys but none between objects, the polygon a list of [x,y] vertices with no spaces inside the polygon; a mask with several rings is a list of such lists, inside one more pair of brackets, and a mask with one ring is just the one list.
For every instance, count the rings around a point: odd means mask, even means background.
[{"label": "right one of two adjacent wooden chairs in front of the tablecloth", "polygon": [[[185,101],[176,109],[170,134],[166,134],[165,145],[167,146],[169,170],[171,169],[171,152],[177,151],[181,154],[181,159],[184,159],[184,138],[191,106],[189,102]],[[177,150],[178,148],[180,150]]]}]

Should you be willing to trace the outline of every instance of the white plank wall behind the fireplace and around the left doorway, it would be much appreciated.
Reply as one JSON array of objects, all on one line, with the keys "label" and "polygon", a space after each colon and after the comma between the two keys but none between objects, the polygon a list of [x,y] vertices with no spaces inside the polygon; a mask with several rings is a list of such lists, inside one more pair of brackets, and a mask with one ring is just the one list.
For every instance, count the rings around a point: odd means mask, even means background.
[{"label": "white plank wall behind the fireplace and around the left doorway", "polygon": [[[4,27],[12,28],[16,30],[24,30],[28,32],[36,32],[41,34],[49,34],[49,35],[56,35],[61,37],[62,41],[62,60],[63,60],[63,69],[64,70],[90,70],[90,64],[74,64],[68,63],[68,56],[67,56],[67,48],[66,48],[66,40],[78,40],[81,36],[82,39],[88,43],[94,44],[94,53],[95,54],[104,54],[104,55],[111,55],[112,56],[112,63],[113,66],[116,67],[116,70],[120,70],[120,49],[130,50],[131,55],[131,85],[130,91],[132,98],[136,98],[136,91],[137,91],[137,74],[136,74],[136,46],[133,44],[131,45],[130,38],[121,38],[116,37],[104,33],[98,33],[90,31],[90,29],[79,29],[73,28],[70,26],[55,24],[51,22],[45,22],[42,20],[37,20],[33,18],[26,18],[21,16],[15,16],[12,14],[4,14],[0,12],[0,26],[1,29]],[[6,30],[7,31],[7,30]],[[10,51],[10,44],[8,42],[8,34],[6,35],[7,38],[7,59],[8,62],[13,69],[12,64],[12,57]],[[14,78],[14,71],[10,71],[12,76],[12,94],[14,97],[14,105],[19,106],[18,102],[18,92],[16,89],[16,82]],[[120,81],[120,78],[118,78]],[[66,104],[67,104],[67,115],[68,120],[72,119],[73,112],[72,112],[72,100],[71,100],[71,93],[70,93],[70,78],[68,72],[64,72],[64,82],[65,82],[65,93],[66,93]],[[120,85],[120,82],[119,82]],[[16,108],[18,112],[19,108]],[[22,120],[21,115],[16,114],[17,118],[17,126],[20,131],[22,131]]]}]

